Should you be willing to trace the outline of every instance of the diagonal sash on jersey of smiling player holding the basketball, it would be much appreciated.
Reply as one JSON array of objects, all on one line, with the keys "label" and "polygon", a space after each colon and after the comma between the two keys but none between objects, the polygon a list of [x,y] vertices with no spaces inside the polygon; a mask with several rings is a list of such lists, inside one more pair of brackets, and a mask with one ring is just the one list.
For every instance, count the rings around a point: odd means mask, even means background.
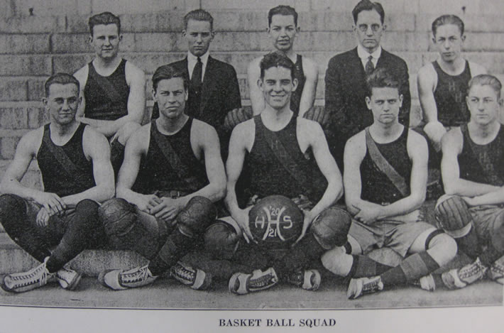
[{"label": "diagonal sash on jersey of smiling player holding the basketball", "polygon": [[[270,147],[271,151],[280,162],[280,164],[287,170],[288,173],[294,178],[299,185],[305,190],[305,193],[308,197],[312,195],[312,183],[307,179],[305,172],[300,168],[294,160],[292,160],[292,155],[294,155],[294,151],[289,151],[280,141],[277,134],[273,131],[265,130],[264,126],[258,126],[258,119],[256,118],[256,131],[258,131],[259,135],[262,135],[265,138],[266,143],[268,143],[268,147]],[[292,148],[291,148],[292,149]]]}]

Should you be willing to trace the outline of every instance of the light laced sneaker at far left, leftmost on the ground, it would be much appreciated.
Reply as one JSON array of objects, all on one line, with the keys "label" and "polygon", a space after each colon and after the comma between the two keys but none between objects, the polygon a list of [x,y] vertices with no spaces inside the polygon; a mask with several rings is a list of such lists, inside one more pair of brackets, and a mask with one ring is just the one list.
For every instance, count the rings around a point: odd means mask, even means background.
[{"label": "light laced sneaker at far left, leftmost on the ground", "polygon": [[11,293],[23,293],[28,290],[40,288],[48,282],[54,280],[55,273],[49,273],[45,268],[49,257],[45,258],[43,263],[32,268],[30,271],[21,273],[12,273],[4,276],[4,282],[1,288]]}]

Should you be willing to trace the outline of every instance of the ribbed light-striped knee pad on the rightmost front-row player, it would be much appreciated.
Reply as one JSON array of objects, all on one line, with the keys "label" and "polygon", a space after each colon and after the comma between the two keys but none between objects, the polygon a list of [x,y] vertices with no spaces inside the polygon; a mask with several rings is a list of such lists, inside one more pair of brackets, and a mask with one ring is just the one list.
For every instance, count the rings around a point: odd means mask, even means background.
[{"label": "ribbed light-striped knee pad on the rightmost front-row player", "polygon": [[439,227],[454,238],[464,237],[471,231],[473,217],[466,202],[459,196],[440,197],[434,209],[434,216]]}]

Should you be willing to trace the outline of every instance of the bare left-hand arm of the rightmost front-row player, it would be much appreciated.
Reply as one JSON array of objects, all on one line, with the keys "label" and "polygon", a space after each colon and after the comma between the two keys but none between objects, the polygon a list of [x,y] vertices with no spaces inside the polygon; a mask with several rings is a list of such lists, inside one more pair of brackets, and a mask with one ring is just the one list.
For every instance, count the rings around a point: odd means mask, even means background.
[{"label": "bare left-hand arm of the rightmost front-row player", "polygon": [[462,152],[463,138],[460,129],[452,129],[442,139],[443,158],[441,173],[447,195],[477,197],[500,190],[500,187],[471,182],[460,178],[458,156]]}]

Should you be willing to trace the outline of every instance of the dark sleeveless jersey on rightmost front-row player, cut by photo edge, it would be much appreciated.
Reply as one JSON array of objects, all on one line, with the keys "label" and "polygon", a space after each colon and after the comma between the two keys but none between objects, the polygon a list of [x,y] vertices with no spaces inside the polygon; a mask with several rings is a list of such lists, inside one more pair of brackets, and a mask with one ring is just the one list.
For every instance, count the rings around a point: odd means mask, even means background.
[{"label": "dark sleeveless jersey on rightmost front-row player, cut by photo edge", "polygon": [[495,139],[486,145],[474,143],[467,124],[460,126],[464,146],[458,156],[460,178],[482,184],[504,185],[504,131],[500,126]]}]

